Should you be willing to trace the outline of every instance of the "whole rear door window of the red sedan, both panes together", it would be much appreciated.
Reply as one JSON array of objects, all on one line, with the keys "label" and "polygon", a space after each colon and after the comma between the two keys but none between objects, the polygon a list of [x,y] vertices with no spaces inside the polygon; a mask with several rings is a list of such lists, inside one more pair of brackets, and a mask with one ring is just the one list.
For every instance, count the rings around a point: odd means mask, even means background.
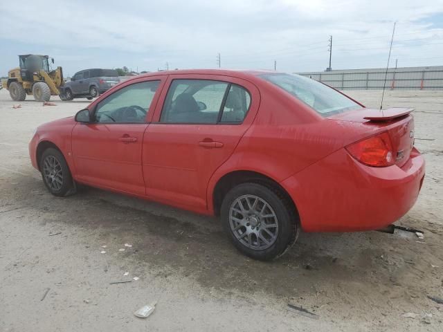
[{"label": "whole rear door window of the red sedan, both panes together", "polygon": [[237,84],[213,80],[173,80],[160,122],[241,123],[250,105],[251,95]]}]

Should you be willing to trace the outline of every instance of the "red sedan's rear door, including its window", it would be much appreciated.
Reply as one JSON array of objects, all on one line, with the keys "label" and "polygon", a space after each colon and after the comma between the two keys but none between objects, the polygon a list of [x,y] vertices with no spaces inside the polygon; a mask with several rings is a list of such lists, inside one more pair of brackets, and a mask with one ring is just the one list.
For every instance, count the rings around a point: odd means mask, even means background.
[{"label": "red sedan's rear door, including its window", "polygon": [[235,77],[170,75],[160,100],[143,138],[146,194],[204,212],[210,176],[251,125],[260,94]]}]

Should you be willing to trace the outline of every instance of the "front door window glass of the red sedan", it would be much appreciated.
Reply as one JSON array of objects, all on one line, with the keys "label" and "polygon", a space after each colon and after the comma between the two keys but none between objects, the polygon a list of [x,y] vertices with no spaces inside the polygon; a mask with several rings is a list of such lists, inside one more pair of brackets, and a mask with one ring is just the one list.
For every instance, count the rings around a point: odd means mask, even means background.
[{"label": "front door window glass of the red sedan", "polygon": [[96,109],[96,122],[145,122],[160,81],[125,86],[102,100]]}]

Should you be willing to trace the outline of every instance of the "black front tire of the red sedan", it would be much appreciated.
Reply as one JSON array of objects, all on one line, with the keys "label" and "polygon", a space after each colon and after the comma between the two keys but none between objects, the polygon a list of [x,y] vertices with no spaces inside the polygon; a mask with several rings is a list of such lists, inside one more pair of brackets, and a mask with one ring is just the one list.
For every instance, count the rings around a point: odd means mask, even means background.
[{"label": "black front tire of the red sedan", "polygon": [[[54,159],[57,161],[57,165],[52,167],[54,165],[52,160]],[[69,171],[68,164],[59,150],[53,147],[44,150],[40,158],[39,167],[44,185],[46,185],[46,188],[48,188],[51,194],[54,196],[68,196],[75,192],[71,171]],[[54,169],[54,173],[48,172],[48,169]],[[57,176],[55,176],[56,172],[59,172]],[[60,174],[61,178],[59,176]],[[55,179],[61,180],[62,183],[55,181]]]}]

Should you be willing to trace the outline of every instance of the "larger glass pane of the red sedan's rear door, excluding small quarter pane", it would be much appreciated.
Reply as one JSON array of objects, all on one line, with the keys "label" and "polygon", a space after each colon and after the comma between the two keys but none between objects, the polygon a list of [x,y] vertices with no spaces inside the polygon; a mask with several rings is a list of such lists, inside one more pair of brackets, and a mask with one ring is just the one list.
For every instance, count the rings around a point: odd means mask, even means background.
[{"label": "larger glass pane of the red sedan's rear door, excluding small quarter pane", "polygon": [[212,80],[173,80],[160,122],[217,123],[228,85]]}]

